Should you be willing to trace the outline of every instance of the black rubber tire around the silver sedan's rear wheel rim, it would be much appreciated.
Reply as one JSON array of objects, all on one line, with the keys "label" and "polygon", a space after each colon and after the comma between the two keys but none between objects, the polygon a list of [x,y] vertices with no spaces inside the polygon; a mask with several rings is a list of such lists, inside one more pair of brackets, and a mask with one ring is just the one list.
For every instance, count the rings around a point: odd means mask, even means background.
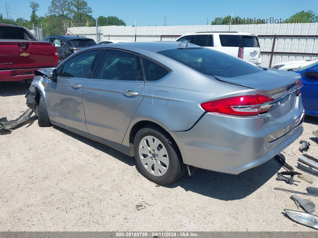
[{"label": "black rubber tire around the silver sedan's rear wheel rim", "polygon": [[[159,139],[167,150],[169,156],[169,167],[167,172],[161,177],[157,177],[150,174],[142,165],[138,151],[139,143],[142,140],[142,138],[144,138],[147,135],[154,136],[157,139]],[[168,185],[170,183],[173,183],[174,181],[181,178],[186,171],[186,166],[183,164],[181,154],[179,152],[177,145],[171,139],[170,135],[159,127],[144,127],[136,133],[134,139],[134,153],[136,163],[139,169],[141,170],[142,175],[156,184]]]}]

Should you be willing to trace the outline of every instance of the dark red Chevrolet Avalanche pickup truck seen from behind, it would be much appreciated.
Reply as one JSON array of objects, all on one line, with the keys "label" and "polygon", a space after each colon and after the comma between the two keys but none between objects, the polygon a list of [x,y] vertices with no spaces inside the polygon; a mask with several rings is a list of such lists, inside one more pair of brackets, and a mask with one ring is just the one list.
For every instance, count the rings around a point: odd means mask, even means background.
[{"label": "dark red Chevrolet Avalanche pickup truck seen from behind", "polygon": [[51,42],[39,41],[28,29],[0,23],[0,81],[29,81],[34,70],[52,68],[59,55]]}]

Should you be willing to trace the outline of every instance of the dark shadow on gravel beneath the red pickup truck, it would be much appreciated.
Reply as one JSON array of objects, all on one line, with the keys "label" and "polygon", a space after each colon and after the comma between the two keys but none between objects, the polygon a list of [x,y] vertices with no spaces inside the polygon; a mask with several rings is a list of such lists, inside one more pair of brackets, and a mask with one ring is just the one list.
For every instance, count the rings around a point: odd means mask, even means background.
[{"label": "dark shadow on gravel beneath the red pickup truck", "polygon": [[29,87],[30,83],[0,82],[0,97],[25,95]]}]

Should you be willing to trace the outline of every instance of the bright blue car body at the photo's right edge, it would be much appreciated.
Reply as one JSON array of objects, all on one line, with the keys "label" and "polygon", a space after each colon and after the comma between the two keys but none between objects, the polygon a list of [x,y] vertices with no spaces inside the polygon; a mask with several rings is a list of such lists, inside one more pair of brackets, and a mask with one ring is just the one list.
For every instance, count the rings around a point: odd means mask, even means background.
[{"label": "bright blue car body at the photo's right edge", "polygon": [[[316,63],[306,70],[310,71],[310,69],[317,67],[318,64]],[[306,110],[306,114],[318,113],[318,76],[308,75],[306,70],[300,72],[303,75],[301,81],[304,85],[301,89],[302,104]]]}]

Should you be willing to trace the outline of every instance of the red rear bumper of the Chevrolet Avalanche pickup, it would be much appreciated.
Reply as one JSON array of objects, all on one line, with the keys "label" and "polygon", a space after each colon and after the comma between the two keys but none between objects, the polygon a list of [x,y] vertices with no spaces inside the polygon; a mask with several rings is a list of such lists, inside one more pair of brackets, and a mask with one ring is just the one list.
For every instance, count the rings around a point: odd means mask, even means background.
[{"label": "red rear bumper of the Chevrolet Avalanche pickup", "polygon": [[22,81],[33,79],[35,69],[0,70],[0,81]]}]

